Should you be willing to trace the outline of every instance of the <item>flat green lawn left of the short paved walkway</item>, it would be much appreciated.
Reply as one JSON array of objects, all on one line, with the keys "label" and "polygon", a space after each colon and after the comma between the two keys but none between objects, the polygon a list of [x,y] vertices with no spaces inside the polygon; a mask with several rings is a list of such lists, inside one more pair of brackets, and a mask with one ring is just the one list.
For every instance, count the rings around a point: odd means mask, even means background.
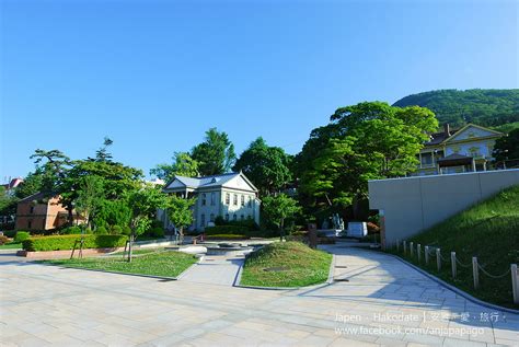
[{"label": "flat green lawn left of the short paved walkway", "polygon": [[138,256],[128,263],[123,257],[95,257],[44,261],[43,263],[65,267],[79,267],[125,274],[153,275],[176,277],[196,263],[196,257],[189,254],[168,251]]}]

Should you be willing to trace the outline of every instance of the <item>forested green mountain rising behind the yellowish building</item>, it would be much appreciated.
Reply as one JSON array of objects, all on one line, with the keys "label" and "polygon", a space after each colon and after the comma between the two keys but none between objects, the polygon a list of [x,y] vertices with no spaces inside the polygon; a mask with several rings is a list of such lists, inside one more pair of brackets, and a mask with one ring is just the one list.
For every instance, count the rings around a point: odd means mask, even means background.
[{"label": "forested green mountain rising behind the yellowish building", "polygon": [[405,96],[393,106],[418,105],[436,114],[440,124],[461,126],[474,123],[495,127],[519,122],[519,89],[454,89]]}]

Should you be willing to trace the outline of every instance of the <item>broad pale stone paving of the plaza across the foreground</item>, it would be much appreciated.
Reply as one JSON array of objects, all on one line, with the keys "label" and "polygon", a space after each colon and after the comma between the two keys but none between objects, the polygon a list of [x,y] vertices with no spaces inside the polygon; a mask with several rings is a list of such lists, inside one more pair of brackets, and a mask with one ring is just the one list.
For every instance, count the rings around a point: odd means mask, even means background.
[{"label": "broad pale stone paving of the plaza across the foreground", "polygon": [[495,310],[397,259],[327,250],[336,254],[335,277],[349,281],[300,290],[158,280],[0,257],[0,345],[518,346],[518,315],[497,312],[497,322],[482,321],[482,313],[494,316]]}]

